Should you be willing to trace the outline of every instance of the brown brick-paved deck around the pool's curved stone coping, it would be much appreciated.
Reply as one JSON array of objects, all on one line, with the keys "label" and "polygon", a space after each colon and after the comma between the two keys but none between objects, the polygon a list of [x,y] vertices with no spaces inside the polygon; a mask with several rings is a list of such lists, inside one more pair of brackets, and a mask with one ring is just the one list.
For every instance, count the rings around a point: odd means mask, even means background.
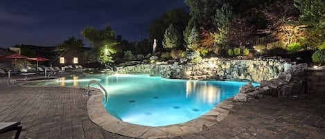
[{"label": "brown brick-paved deck around the pool's curved stone coping", "polygon": [[[0,122],[21,121],[20,138],[130,138],[121,136],[123,130],[112,133],[91,122],[91,111],[87,109],[89,97],[85,92],[79,87],[9,85],[6,77],[0,77]],[[91,96],[90,99],[94,99],[91,101],[96,101],[96,94]],[[222,106],[227,115],[223,120],[214,121],[216,124],[202,126],[202,131],[196,133],[166,138],[324,138],[324,95],[265,97],[250,102],[231,102],[231,105]],[[128,130],[135,128],[128,127]],[[177,129],[170,132],[177,133]],[[135,134],[145,138],[145,134]],[[0,139],[14,135],[13,132],[3,133]]]}]

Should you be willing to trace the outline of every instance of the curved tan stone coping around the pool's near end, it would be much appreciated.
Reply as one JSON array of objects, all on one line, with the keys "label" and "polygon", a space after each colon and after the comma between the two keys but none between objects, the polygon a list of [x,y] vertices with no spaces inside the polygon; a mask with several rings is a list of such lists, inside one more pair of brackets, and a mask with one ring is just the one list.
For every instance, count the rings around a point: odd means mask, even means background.
[{"label": "curved tan stone coping around the pool's near end", "polygon": [[106,131],[132,138],[170,138],[197,133],[223,120],[234,106],[233,97],[231,97],[222,100],[211,111],[194,120],[163,127],[148,127],[123,122],[110,115],[102,104],[103,93],[99,89],[95,91],[96,93],[92,91],[93,95],[87,100],[89,119]]}]

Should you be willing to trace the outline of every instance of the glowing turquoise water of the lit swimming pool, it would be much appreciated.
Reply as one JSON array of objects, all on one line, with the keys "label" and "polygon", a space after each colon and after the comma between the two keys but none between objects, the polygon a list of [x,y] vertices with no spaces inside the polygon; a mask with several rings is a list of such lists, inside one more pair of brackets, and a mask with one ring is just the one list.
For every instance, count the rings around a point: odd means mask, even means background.
[{"label": "glowing turquoise water of the lit swimming pool", "polygon": [[246,84],[168,80],[148,75],[91,75],[65,77],[44,85],[87,86],[89,80],[97,80],[108,91],[108,100],[103,100],[103,105],[111,115],[124,122],[151,127],[193,120],[238,93],[239,86]]}]

